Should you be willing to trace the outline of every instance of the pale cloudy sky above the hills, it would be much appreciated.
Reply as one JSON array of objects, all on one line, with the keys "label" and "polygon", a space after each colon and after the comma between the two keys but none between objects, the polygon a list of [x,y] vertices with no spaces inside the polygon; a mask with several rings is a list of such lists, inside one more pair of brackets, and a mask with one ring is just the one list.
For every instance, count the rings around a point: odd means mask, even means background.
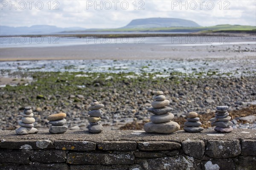
[{"label": "pale cloudy sky above the hills", "polygon": [[256,0],[0,0],[0,6],[1,26],[119,28],[149,17],[256,25]]}]

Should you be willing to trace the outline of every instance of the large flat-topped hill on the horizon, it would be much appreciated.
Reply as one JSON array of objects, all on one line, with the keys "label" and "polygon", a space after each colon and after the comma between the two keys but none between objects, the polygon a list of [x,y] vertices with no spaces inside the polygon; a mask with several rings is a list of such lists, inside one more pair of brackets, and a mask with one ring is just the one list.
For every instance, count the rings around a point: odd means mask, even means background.
[{"label": "large flat-topped hill on the horizon", "polygon": [[145,18],[132,20],[123,28],[164,28],[164,27],[200,27],[191,20],[178,18]]}]

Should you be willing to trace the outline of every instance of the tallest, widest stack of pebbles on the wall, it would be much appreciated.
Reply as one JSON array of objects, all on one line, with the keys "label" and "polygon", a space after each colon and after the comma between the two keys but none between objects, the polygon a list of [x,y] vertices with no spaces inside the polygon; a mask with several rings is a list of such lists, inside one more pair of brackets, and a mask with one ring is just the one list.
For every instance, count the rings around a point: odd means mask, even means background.
[{"label": "tallest, widest stack of pebbles on the wall", "polygon": [[180,125],[173,122],[174,115],[169,113],[172,108],[167,107],[170,102],[162,91],[154,93],[154,102],[151,103],[153,108],[148,111],[154,115],[150,117],[151,122],[145,123],[144,130],[148,133],[172,133],[180,130]]}]

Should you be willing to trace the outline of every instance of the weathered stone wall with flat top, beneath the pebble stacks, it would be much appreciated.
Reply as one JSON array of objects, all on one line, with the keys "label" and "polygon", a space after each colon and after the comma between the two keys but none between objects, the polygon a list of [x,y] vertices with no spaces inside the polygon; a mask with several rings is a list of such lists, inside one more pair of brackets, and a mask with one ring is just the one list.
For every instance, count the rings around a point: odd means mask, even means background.
[{"label": "weathered stone wall with flat top, beneath the pebble stacks", "polygon": [[256,130],[228,134],[204,130],[150,134],[111,130],[99,134],[17,136],[0,131],[0,170],[255,170]]}]

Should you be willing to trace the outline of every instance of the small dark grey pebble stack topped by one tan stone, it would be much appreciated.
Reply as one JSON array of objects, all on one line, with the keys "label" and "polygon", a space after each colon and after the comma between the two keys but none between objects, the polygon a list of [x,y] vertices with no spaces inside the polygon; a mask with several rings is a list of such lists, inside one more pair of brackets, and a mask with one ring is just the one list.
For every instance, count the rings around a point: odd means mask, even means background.
[{"label": "small dark grey pebble stack topped by one tan stone", "polygon": [[186,132],[201,132],[204,130],[203,127],[200,127],[202,124],[199,122],[200,118],[198,117],[198,113],[189,112],[188,119],[184,123],[184,130]]}]

